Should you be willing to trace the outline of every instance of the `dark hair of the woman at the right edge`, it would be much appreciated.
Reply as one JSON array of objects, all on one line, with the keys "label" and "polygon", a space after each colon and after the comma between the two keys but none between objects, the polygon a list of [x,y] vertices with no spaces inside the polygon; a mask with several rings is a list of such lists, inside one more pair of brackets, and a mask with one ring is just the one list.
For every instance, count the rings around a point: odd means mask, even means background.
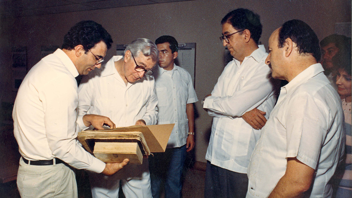
[{"label": "dark hair of the woman at the right edge", "polygon": [[351,39],[347,42],[344,49],[340,50],[332,57],[332,64],[337,69],[345,70],[351,76]]}]

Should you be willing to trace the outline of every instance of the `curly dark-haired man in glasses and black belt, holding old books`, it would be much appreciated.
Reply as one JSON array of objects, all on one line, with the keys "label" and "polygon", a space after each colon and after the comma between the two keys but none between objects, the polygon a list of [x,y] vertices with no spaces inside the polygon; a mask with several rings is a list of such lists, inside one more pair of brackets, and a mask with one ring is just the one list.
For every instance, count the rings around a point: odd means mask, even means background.
[{"label": "curly dark-haired man in glasses and black belt, holding old books", "polygon": [[112,175],[129,162],[105,164],[76,140],[77,131],[90,125],[115,127],[108,117],[77,117],[75,79],[100,68],[111,43],[100,24],[78,22],[65,36],[63,49],[44,57],[23,79],[12,114],[22,155],[17,175],[21,197],[77,198],[72,167]]}]

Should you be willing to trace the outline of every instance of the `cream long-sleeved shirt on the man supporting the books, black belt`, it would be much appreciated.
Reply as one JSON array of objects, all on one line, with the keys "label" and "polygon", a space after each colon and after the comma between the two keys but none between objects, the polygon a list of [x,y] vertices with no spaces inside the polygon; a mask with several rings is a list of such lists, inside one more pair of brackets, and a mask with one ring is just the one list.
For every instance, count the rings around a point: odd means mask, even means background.
[{"label": "cream long-sleeved shirt on the man supporting the books, black belt", "polygon": [[76,67],[61,49],[33,66],[16,97],[14,134],[28,160],[57,157],[74,168],[101,173],[105,163],[76,140],[76,120],[83,123],[82,117],[77,118],[76,76]]}]

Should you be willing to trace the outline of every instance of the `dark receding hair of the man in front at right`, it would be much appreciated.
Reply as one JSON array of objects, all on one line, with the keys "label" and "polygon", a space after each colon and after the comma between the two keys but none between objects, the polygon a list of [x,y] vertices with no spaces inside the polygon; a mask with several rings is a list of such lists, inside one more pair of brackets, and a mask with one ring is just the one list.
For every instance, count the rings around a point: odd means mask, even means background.
[{"label": "dark receding hair of the man in front at right", "polygon": [[318,37],[307,23],[297,19],[285,22],[279,32],[279,48],[284,46],[287,38],[297,44],[300,54],[309,53],[317,62],[320,61],[321,51]]}]

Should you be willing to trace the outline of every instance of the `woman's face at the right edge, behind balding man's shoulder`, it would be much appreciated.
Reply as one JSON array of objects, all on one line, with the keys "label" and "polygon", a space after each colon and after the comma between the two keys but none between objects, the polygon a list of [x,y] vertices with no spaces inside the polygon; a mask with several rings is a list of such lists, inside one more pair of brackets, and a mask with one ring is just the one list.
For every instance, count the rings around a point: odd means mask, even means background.
[{"label": "woman's face at the right edge, behind balding man's shoulder", "polygon": [[336,76],[337,92],[344,97],[351,98],[351,75],[344,69],[338,69]]}]

